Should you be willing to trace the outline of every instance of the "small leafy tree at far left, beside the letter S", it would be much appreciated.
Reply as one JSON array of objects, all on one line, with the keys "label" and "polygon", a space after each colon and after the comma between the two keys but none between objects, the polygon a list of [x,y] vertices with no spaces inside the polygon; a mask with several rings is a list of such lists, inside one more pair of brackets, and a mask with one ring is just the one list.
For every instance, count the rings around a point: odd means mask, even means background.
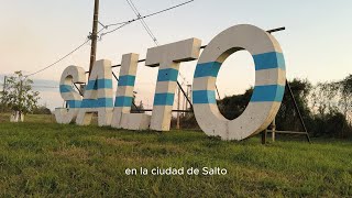
[{"label": "small leafy tree at far left, beside the letter S", "polygon": [[20,114],[26,114],[37,108],[38,91],[32,90],[33,80],[15,72],[7,78],[6,89],[2,91],[1,101],[7,108]]}]

